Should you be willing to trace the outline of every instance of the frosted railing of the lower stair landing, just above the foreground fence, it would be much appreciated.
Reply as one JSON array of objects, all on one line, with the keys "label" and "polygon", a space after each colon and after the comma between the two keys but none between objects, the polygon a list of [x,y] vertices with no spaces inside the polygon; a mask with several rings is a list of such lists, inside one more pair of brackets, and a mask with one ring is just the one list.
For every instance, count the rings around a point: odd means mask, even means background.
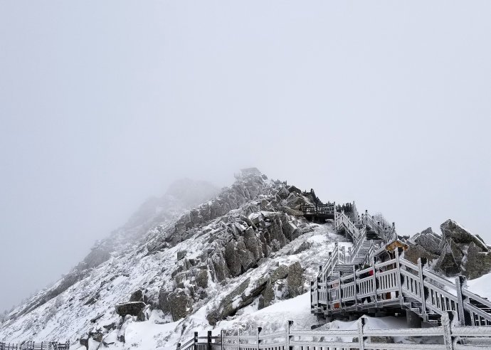
[{"label": "frosted railing of the lower stair landing, just above the foreground fence", "polygon": [[312,311],[336,314],[398,304],[426,320],[429,314],[455,311],[461,324],[491,325],[491,302],[470,292],[465,277],[450,282],[428,270],[424,260],[415,265],[398,249],[394,253],[384,262],[372,258],[368,268],[318,277],[311,282]]}]

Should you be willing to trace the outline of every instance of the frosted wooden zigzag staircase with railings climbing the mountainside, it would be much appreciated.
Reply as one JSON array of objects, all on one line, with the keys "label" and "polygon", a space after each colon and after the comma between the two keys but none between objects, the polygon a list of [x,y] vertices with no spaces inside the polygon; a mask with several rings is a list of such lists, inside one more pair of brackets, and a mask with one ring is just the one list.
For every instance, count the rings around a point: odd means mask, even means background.
[{"label": "frosted wooden zigzag staircase with railings climbing the mountainside", "polygon": [[329,253],[317,281],[311,284],[313,313],[333,317],[406,309],[439,325],[443,314],[455,312],[460,324],[491,325],[491,302],[470,292],[465,277],[448,281],[421,260],[415,265],[399,256],[400,246],[393,246],[390,254],[379,249],[396,240],[394,224],[383,226],[366,212],[354,222],[344,212],[335,211],[334,227],[344,230],[354,245],[346,252],[336,244]]}]

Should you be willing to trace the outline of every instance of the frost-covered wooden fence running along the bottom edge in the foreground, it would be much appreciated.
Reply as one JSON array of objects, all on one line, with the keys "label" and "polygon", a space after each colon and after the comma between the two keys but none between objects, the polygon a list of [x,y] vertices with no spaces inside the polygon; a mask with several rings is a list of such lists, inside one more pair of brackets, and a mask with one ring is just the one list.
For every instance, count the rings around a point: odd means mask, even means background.
[{"label": "frost-covered wooden fence running along the bottom edge in the foreground", "polygon": [[[194,337],[177,350],[318,350],[318,349],[379,349],[379,350],[484,350],[491,348],[491,327],[460,327],[455,312],[441,316],[441,326],[431,328],[370,329],[367,319],[361,317],[357,329],[303,330],[292,329],[289,321],[285,329],[265,334],[261,327],[252,334],[222,330],[219,336]],[[423,341],[394,342],[394,337],[418,337]],[[200,342],[200,339],[206,339]]]}]

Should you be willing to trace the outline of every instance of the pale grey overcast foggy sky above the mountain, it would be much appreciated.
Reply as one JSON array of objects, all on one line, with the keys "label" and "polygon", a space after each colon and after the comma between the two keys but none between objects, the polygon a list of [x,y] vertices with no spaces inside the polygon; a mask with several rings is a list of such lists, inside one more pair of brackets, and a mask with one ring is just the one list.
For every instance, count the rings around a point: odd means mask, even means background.
[{"label": "pale grey overcast foggy sky above the mountain", "polygon": [[0,0],[0,310],[172,180],[245,166],[400,234],[453,218],[491,243],[490,17],[490,1]]}]

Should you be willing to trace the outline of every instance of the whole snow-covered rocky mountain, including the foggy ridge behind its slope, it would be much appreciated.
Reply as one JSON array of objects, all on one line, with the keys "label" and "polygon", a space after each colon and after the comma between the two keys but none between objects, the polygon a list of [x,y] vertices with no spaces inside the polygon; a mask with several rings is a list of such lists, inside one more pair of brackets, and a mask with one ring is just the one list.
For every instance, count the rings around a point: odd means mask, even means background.
[{"label": "whole snow-covered rocky mountain, including the foggy ridge behind its slope", "polygon": [[[70,274],[14,309],[0,325],[0,341],[175,349],[196,330],[274,330],[293,317],[310,328],[317,323],[310,280],[336,242],[352,244],[331,223],[303,218],[300,206],[314,200],[257,169],[243,170],[219,193],[181,181],[144,203]],[[462,238],[458,229],[448,239]],[[407,242],[414,257],[434,251],[437,260],[445,239],[425,230]],[[448,243],[467,251],[469,244],[459,244]],[[467,259],[460,264],[468,268]]]}]

